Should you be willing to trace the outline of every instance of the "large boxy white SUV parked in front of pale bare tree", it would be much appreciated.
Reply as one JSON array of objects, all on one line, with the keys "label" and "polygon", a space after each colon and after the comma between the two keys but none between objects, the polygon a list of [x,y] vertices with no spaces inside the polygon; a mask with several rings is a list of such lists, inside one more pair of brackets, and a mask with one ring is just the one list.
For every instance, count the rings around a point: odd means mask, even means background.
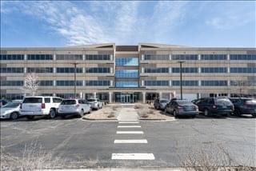
[{"label": "large boxy white SUV parked in front of pale bare tree", "polygon": [[44,96],[30,96],[24,97],[20,105],[21,115],[28,119],[33,119],[34,116],[49,116],[54,118],[58,112],[58,105],[62,102],[60,97],[44,97]]}]

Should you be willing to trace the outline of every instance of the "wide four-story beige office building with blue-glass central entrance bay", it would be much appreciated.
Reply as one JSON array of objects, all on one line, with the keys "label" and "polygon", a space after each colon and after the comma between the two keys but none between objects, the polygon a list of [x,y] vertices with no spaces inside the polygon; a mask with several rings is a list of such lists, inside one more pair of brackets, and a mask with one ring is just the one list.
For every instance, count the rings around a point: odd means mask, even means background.
[{"label": "wide four-story beige office building with blue-glass central entrance bay", "polygon": [[38,77],[38,95],[74,97],[75,78],[77,97],[110,102],[179,97],[180,61],[184,98],[239,93],[256,96],[256,48],[107,43],[1,48],[0,60],[1,96],[6,98],[22,97],[24,78],[31,73]]}]

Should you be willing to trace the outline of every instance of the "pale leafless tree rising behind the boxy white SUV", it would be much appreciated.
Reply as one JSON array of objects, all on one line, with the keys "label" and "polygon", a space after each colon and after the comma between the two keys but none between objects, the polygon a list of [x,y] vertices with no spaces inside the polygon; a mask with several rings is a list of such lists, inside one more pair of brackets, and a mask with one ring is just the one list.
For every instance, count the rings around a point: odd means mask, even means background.
[{"label": "pale leafless tree rising behind the boxy white SUV", "polygon": [[30,95],[34,96],[38,90],[38,85],[39,85],[38,76],[36,76],[36,74],[34,73],[27,74],[24,80],[24,86],[22,87],[22,89],[25,92],[30,93]]}]

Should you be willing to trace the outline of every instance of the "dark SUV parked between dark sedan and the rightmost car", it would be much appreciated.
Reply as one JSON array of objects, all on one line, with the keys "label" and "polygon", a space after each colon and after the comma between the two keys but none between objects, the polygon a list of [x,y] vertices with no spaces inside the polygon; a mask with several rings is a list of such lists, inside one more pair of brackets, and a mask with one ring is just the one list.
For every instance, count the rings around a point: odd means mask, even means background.
[{"label": "dark SUV parked between dark sedan and the rightmost car", "polygon": [[195,101],[194,104],[198,105],[199,111],[205,116],[217,114],[226,117],[234,111],[234,105],[227,97],[204,97]]}]

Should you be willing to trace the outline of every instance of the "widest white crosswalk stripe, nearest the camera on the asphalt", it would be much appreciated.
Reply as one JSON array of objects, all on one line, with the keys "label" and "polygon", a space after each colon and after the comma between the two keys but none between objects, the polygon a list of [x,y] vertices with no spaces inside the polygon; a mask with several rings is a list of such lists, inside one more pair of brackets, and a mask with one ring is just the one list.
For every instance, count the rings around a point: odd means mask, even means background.
[{"label": "widest white crosswalk stripe, nearest the camera on the asphalt", "polygon": [[112,153],[112,160],[154,160],[153,153]]}]

